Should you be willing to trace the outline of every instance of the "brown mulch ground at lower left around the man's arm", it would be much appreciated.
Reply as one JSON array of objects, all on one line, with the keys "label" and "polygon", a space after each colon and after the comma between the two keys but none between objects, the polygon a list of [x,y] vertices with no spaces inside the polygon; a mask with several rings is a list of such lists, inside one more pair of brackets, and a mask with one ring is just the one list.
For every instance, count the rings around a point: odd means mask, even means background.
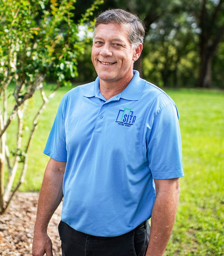
[{"label": "brown mulch ground at lower left around the man's arm", "polygon": [[[31,256],[38,193],[17,192],[6,211],[0,215],[0,255]],[[52,216],[48,235],[52,239],[53,255],[61,256],[58,224],[61,204]]]}]

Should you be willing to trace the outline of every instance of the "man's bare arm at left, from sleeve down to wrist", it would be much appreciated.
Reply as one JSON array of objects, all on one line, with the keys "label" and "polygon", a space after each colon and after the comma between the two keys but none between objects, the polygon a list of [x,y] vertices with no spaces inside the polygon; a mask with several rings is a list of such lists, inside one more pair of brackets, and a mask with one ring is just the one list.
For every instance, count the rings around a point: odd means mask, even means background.
[{"label": "man's bare arm at left, from sleeve down to wrist", "polygon": [[55,168],[55,160],[50,159],[44,172],[37,207],[35,233],[47,231],[52,214],[57,209],[63,197],[62,182],[66,163],[61,162],[57,164],[59,166]]}]

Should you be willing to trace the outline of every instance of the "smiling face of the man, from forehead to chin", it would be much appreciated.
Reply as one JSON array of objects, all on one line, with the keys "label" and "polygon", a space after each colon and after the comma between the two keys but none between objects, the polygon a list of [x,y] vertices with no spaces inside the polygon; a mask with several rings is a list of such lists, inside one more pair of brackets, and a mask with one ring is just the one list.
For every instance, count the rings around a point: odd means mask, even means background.
[{"label": "smiling face of the man, from forehead to chin", "polygon": [[129,83],[132,79],[133,62],[140,54],[132,49],[128,40],[129,29],[128,24],[98,25],[92,45],[92,63],[100,80]]}]

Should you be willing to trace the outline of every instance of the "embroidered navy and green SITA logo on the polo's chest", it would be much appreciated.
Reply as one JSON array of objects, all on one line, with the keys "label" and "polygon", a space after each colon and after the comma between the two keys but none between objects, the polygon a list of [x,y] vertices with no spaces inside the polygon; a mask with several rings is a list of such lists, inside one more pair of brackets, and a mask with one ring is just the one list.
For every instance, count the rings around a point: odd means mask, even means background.
[{"label": "embroidered navy and green SITA logo on the polo's chest", "polygon": [[131,127],[136,120],[136,116],[133,115],[131,108],[120,109],[117,115],[116,123],[118,125]]}]

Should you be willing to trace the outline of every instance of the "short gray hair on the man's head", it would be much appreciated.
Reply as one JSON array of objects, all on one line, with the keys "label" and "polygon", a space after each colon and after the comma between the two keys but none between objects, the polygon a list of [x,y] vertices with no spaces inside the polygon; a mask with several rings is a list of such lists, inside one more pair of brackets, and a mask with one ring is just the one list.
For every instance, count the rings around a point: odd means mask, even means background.
[{"label": "short gray hair on the man's head", "polygon": [[130,31],[128,39],[132,48],[136,48],[139,44],[143,44],[145,36],[145,26],[139,17],[131,12],[122,9],[111,9],[102,12],[97,18],[94,27],[93,38],[96,35],[96,29],[99,24],[117,23],[119,25],[129,24]]}]

